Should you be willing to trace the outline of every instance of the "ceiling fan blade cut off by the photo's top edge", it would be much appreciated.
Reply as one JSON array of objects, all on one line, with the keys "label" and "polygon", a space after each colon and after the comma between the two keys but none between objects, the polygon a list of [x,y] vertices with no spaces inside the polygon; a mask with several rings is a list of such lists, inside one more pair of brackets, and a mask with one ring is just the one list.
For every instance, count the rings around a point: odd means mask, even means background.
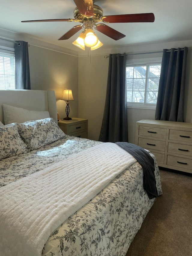
[{"label": "ceiling fan blade cut off by the photo's top edge", "polygon": [[91,17],[94,15],[92,0],[73,0],[79,10],[85,16]]}]

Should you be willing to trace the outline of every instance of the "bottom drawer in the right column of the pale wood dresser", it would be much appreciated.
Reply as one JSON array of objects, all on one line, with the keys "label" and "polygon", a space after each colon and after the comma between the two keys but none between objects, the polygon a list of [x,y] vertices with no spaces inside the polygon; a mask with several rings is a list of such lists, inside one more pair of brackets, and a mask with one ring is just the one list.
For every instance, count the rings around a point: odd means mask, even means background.
[{"label": "bottom drawer in the right column of the pale wood dresser", "polygon": [[191,170],[191,168],[192,168],[192,159],[187,159],[187,158],[177,157],[177,156],[173,156],[173,155],[168,155],[167,156],[167,164]]}]

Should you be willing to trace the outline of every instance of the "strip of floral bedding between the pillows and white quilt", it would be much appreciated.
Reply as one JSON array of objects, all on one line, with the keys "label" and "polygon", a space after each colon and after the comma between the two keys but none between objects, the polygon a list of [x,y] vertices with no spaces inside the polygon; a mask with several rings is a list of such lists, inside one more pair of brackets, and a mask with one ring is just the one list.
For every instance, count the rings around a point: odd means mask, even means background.
[{"label": "strip of floral bedding between the pillows and white quilt", "polygon": [[79,153],[101,142],[65,135],[49,145],[19,156],[0,160],[0,187],[10,182],[43,170],[58,161]]}]

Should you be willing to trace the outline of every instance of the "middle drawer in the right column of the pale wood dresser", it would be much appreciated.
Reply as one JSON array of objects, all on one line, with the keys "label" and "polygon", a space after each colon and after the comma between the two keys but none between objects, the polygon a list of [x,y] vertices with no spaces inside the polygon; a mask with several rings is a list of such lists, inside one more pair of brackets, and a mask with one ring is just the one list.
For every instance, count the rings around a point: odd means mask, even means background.
[{"label": "middle drawer in the right column of the pale wood dresser", "polygon": [[176,153],[176,154],[180,154],[180,155],[192,156],[192,146],[169,142],[168,143],[168,152]]}]

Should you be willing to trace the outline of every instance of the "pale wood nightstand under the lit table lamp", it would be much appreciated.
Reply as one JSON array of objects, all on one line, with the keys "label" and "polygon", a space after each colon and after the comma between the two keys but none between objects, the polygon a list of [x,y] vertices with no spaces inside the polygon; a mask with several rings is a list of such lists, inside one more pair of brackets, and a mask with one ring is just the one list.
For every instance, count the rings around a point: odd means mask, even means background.
[{"label": "pale wood nightstand under the lit table lamp", "polygon": [[71,120],[59,120],[58,126],[67,135],[87,139],[88,119],[73,117]]}]

